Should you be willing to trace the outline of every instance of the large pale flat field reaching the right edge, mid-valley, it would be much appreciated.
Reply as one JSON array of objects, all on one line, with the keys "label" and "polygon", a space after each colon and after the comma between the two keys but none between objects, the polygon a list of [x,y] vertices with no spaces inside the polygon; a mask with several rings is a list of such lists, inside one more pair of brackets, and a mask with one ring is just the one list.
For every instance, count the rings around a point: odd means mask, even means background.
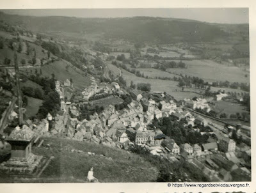
[{"label": "large pale flat field reaching the right edge, mid-valley", "polygon": [[[238,67],[220,65],[210,60],[183,61],[188,68],[168,68],[168,72],[182,73],[183,75],[195,76],[208,82],[229,81],[229,82],[250,82],[250,75]],[[244,75],[248,77],[244,77]]]}]

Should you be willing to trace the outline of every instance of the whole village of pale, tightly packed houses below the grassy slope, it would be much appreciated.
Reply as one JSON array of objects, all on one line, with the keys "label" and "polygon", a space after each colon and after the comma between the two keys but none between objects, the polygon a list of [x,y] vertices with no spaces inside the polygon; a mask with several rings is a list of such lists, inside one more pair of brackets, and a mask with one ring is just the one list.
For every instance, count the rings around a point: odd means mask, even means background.
[{"label": "whole village of pale, tightly packed houses below the grassy slope", "polygon": [[[121,95],[131,92],[131,90],[126,91],[116,82],[110,84],[111,88],[108,86],[99,88],[97,82],[99,81],[92,77],[91,86],[81,93],[85,102],[89,102],[91,97],[99,93]],[[196,109],[210,111],[211,108],[205,98],[196,98],[196,100],[184,98],[176,103],[173,100],[164,99],[166,98],[164,93],[159,93],[161,100],[156,102],[142,93],[132,95],[134,97],[127,108],[117,111],[114,105],[109,105],[100,114],[95,112],[88,120],[79,121],[81,112],[77,108],[81,103],[65,101],[67,98],[65,93],[67,89],[72,89],[72,83],[67,79],[63,83],[56,81],[55,84],[61,100],[61,114],[52,117],[48,113],[45,119],[36,123],[26,120],[22,128],[19,126],[15,128],[16,131],[29,129],[38,136],[86,141],[127,151],[129,146],[141,146],[147,148],[152,155],[168,158],[170,162],[188,162],[191,167],[196,167],[209,176],[211,181],[232,181],[232,172],[250,176],[250,146],[244,143],[237,146],[234,139],[230,139],[235,132],[237,137],[250,142],[250,127],[223,126],[211,117],[196,112]],[[215,100],[221,100],[221,96],[216,96]],[[17,113],[13,111],[10,119],[15,117]],[[186,130],[193,130],[193,132],[200,132],[198,125],[203,128],[208,127],[208,130],[200,134],[216,137],[209,137],[207,143],[203,144],[178,145],[172,136],[164,135],[159,128],[148,127],[153,120],[168,117],[176,121],[184,120]],[[3,164],[1,168],[4,168]]]}]

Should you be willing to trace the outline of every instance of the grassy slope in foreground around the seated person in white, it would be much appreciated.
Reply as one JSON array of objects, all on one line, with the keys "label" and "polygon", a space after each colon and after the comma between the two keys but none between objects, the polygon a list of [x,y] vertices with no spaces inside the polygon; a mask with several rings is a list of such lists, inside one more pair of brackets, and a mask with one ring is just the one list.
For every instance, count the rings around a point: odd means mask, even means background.
[{"label": "grassy slope in foreground around the seated person in white", "polygon": [[[158,176],[156,167],[125,150],[69,139],[44,139],[44,146],[33,149],[33,153],[47,157],[53,155],[55,158],[40,176],[42,180],[36,182],[84,182],[92,166],[93,175],[100,182],[150,182],[156,181]],[[51,147],[47,149],[46,144]],[[86,153],[72,152],[73,149]],[[95,155],[88,155],[87,152]],[[106,157],[100,156],[103,154]]]}]

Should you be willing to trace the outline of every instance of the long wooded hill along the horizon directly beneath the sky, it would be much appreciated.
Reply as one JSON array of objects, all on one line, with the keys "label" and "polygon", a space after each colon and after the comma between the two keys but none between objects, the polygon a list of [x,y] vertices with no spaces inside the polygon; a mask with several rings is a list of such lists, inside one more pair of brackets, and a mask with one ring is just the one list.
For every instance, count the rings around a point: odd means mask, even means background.
[{"label": "long wooded hill along the horizon directly beneath the sky", "polygon": [[234,29],[243,28],[248,31],[247,24],[227,24],[232,27],[225,27],[225,24],[209,24],[195,20],[159,17],[99,19],[56,16],[31,17],[0,13],[0,20],[26,27],[31,31],[67,31],[89,34],[100,32],[104,34],[104,38],[152,43],[214,41],[216,38],[241,35],[239,30]]}]

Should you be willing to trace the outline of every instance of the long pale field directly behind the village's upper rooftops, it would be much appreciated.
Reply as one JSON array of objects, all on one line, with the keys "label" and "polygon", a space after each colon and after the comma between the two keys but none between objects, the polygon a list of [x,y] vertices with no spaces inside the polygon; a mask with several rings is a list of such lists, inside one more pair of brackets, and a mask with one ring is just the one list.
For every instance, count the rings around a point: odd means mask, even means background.
[{"label": "long pale field directly behind the village's upper rooftops", "polygon": [[182,92],[180,88],[177,86],[178,82],[175,81],[165,81],[159,79],[145,79],[141,77],[136,77],[133,73],[127,72],[126,70],[122,69],[122,77],[127,82],[127,86],[130,86],[131,81],[134,84],[138,83],[149,83],[151,84],[151,92],[159,93],[159,92],[166,92],[169,95],[173,96],[176,100],[181,100],[183,98],[193,98],[194,96],[199,96],[196,93],[189,93],[189,92]]}]

